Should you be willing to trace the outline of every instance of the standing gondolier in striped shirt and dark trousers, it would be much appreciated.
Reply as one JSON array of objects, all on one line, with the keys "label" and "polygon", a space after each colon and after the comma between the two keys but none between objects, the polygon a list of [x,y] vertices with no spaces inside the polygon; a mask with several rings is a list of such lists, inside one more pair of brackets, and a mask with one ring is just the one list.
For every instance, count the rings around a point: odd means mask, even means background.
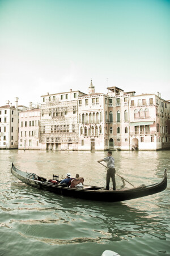
[{"label": "standing gondolier in striped shirt and dark trousers", "polygon": [[110,179],[112,178],[112,182],[113,182],[113,190],[116,190],[116,181],[115,181],[115,173],[116,170],[114,169],[114,158],[112,157],[112,151],[108,151],[107,153],[107,157],[105,157],[104,159],[101,159],[97,162],[107,162],[107,177],[106,177],[106,190],[109,190],[109,183],[110,183]]}]

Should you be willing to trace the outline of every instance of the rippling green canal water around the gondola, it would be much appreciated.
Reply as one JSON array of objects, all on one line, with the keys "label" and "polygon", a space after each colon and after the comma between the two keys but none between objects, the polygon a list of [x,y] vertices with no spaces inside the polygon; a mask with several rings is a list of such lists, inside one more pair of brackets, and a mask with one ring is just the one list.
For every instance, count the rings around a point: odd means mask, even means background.
[{"label": "rippling green canal water around the gondola", "polygon": [[[97,160],[106,153],[0,150],[0,255],[170,255],[170,151],[113,152],[117,174],[134,186],[159,182],[168,170],[165,191],[120,203],[55,195],[11,174],[13,161],[48,179],[69,171],[85,184],[105,186],[106,169]],[[122,185],[117,176],[116,185]]]}]

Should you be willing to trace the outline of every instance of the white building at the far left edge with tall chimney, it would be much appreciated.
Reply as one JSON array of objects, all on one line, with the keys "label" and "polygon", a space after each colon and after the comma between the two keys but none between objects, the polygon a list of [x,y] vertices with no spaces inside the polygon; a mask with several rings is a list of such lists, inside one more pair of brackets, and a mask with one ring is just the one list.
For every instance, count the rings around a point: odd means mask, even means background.
[{"label": "white building at the far left edge with tall chimney", "polygon": [[15,106],[7,101],[0,107],[0,149],[18,148],[18,123],[19,113],[27,107],[18,106],[18,98],[15,98]]}]

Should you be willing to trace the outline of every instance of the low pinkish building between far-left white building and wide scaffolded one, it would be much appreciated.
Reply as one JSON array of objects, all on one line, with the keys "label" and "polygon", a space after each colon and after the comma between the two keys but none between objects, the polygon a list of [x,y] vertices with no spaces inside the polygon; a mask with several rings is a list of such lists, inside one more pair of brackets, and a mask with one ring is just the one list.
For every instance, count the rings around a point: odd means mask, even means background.
[{"label": "low pinkish building between far-left white building and wide scaffolded one", "polygon": [[39,145],[40,108],[29,105],[29,110],[19,115],[18,149],[40,149]]}]

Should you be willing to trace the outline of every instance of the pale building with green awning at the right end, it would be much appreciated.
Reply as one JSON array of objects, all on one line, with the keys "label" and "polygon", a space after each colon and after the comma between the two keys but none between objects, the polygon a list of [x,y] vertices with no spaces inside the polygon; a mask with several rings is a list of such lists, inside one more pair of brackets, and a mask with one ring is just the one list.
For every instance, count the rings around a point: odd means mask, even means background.
[{"label": "pale building with green awning at the right end", "polygon": [[130,148],[170,148],[170,102],[158,93],[130,99]]}]

